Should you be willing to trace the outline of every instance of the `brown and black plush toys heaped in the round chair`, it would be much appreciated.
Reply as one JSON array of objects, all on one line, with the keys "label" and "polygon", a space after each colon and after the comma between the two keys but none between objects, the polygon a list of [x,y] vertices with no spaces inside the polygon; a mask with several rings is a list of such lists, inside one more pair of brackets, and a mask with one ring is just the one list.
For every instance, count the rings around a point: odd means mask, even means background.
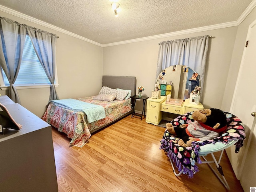
[{"label": "brown and black plush toys heaped in the round chair", "polygon": [[183,147],[191,146],[193,141],[206,141],[219,136],[226,126],[226,115],[219,109],[203,109],[194,111],[190,124],[182,124],[182,127],[174,127],[171,123],[166,124],[170,134],[176,135],[180,140],[178,144]]}]

